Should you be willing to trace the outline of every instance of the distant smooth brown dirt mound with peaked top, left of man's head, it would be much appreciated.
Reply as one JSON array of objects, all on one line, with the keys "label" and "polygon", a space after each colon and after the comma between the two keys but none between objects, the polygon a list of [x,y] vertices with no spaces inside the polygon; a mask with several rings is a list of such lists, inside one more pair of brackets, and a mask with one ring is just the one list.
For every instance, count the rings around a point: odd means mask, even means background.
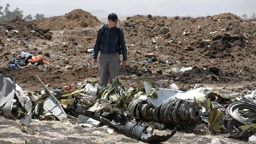
[{"label": "distant smooth brown dirt mound with peaked top, left of man's head", "polygon": [[57,30],[59,28],[70,29],[96,27],[102,24],[102,22],[90,12],[86,12],[81,9],[73,10],[66,13],[64,16],[32,20],[30,23],[38,26],[39,28],[50,28],[51,30]]}]

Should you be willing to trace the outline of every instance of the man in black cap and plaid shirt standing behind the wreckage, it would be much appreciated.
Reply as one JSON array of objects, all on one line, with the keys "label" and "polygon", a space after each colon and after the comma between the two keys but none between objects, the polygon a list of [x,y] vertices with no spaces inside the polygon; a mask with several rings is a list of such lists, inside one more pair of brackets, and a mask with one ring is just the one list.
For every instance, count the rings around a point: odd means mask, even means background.
[{"label": "man in black cap and plaid shirt standing behind the wreckage", "polygon": [[108,15],[108,24],[99,29],[96,42],[93,48],[92,61],[96,64],[98,52],[100,51],[99,60],[99,77],[100,86],[110,84],[113,79],[119,75],[119,54],[123,54],[123,66],[127,62],[127,50],[124,41],[124,32],[122,28],[117,27],[117,15],[110,13]]}]

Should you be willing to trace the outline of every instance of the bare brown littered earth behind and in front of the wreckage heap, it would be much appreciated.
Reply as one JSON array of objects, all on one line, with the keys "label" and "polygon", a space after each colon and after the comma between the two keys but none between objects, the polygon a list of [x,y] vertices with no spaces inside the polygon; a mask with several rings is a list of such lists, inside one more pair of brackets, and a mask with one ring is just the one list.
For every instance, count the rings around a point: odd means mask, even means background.
[{"label": "bare brown littered earth behind and in front of the wreckage heap", "polygon": [[[242,20],[231,13],[225,13],[197,19],[150,18],[150,16],[136,15],[125,21],[135,24],[135,28],[131,28],[126,27],[124,21],[118,23],[124,29],[127,55],[130,60],[126,67],[120,67],[120,81],[125,88],[143,87],[141,81],[134,83],[128,81],[130,78],[142,75],[153,78],[164,88],[168,88],[172,83],[182,88],[192,88],[194,84],[199,83],[213,88],[213,92],[217,94],[234,94],[244,89],[256,88],[255,20]],[[39,27],[39,23],[36,23]],[[35,24],[32,27],[30,23],[17,17],[0,23],[0,39],[4,44],[9,45],[0,46],[0,74],[11,75],[25,93],[44,90],[37,82],[36,75],[52,89],[62,89],[64,85],[76,84],[88,78],[96,78],[99,82],[98,67],[91,65],[92,53],[87,53],[88,49],[93,48],[99,27],[76,26],[73,29],[63,29],[63,27],[50,32],[38,30]],[[9,33],[6,33],[7,29]],[[19,30],[19,33],[11,32],[11,29]],[[31,30],[36,30],[36,33]],[[59,32],[62,30],[65,32],[61,35]],[[210,33],[216,31],[217,33]],[[183,32],[190,34],[183,35]],[[8,39],[12,38],[19,42],[8,42]],[[152,39],[155,39],[156,44],[151,44]],[[205,42],[204,39],[210,42]],[[74,41],[81,46],[71,46]],[[64,42],[66,44],[63,44]],[[30,52],[35,56],[41,54],[51,65],[6,68],[12,53],[22,51]],[[55,59],[49,58],[48,52],[52,53]],[[145,64],[144,60],[151,59],[145,56],[148,53],[155,53],[154,57],[163,60],[164,63],[153,66]],[[66,59],[62,61],[61,57]],[[184,73],[172,71],[172,68],[182,67],[194,68]],[[162,73],[158,70],[162,70]],[[66,126],[60,121],[33,121],[29,128],[36,129],[36,132],[29,134],[20,130],[18,121],[7,119],[3,113],[0,113],[0,144],[20,144],[25,143],[25,140],[35,144],[142,143],[115,129],[113,129],[114,134],[108,134],[107,129],[100,128],[102,125],[82,128],[74,125]],[[95,131],[101,133],[93,134]],[[165,132],[167,131],[159,133]],[[229,138],[228,132],[212,133],[207,124],[203,123],[191,130],[177,130],[176,134],[164,143],[206,144],[213,138],[218,138],[222,144],[248,141],[248,139]]]}]

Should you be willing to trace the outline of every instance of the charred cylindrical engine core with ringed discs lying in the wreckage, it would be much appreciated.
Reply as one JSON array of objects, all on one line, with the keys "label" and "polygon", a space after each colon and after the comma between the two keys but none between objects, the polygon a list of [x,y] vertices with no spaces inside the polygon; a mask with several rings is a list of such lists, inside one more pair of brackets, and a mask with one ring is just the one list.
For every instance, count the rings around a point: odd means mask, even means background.
[{"label": "charred cylindrical engine core with ringed discs lying in the wreckage", "polygon": [[168,100],[156,108],[146,100],[132,101],[128,108],[129,113],[137,120],[155,120],[159,124],[155,128],[173,127],[177,125],[196,125],[201,117],[196,105],[190,105],[185,100]]}]

